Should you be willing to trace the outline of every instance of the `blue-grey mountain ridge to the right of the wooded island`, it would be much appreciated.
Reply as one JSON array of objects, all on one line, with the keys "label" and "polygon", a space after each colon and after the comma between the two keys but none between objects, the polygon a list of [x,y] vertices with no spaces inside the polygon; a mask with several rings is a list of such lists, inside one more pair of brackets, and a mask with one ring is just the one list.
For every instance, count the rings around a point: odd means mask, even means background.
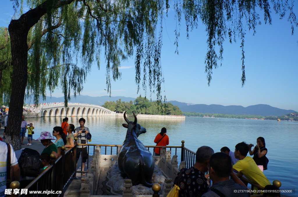
[{"label": "blue-grey mountain ridge to the right of the wooded island", "polygon": [[279,109],[270,105],[258,104],[243,107],[240,105],[205,105],[196,104],[190,105],[178,101],[168,101],[173,105],[177,105],[182,112],[197,112],[197,113],[214,113],[214,114],[239,114],[239,115],[260,115],[260,116],[281,116],[295,112],[295,110]]}]

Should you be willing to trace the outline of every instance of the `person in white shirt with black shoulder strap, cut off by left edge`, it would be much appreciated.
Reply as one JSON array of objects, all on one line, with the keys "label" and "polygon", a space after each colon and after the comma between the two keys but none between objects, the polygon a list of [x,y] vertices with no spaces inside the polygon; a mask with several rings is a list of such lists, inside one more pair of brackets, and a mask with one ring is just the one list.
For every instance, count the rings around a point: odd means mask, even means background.
[{"label": "person in white shirt with black shoulder strap, cut off by left edge", "polygon": [[[10,145],[10,144],[9,144]],[[6,180],[10,179],[12,182],[13,177],[7,178],[7,144],[5,142],[0,141],[0,197],[6,196]],[[10,165],[12,166],[13,176],[15,181],[20,180],[20,167],[18,165],[18,160],[15,157],[15,152],[13,151],[13,147],[10,145]]]}]

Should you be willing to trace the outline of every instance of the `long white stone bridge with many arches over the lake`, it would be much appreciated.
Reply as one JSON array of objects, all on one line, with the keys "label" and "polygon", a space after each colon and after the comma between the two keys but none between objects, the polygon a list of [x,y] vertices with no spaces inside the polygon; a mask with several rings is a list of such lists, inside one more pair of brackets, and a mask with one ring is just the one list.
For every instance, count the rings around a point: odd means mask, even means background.
[{"label": "long white stone bridge with many arches over the lake", "polygon": [[116,112],[107,108],[85,103],[68,103],[67,108],[64,103],[40,104],[38,111],[41,117],[116,116]]}]

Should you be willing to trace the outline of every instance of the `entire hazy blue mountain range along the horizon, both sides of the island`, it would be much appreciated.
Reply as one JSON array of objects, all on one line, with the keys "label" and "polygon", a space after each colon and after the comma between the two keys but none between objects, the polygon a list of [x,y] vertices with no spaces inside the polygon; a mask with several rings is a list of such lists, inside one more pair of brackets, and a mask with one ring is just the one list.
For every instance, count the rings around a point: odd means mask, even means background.
[{"label": "entire hazy blue mountain range along the horizon, both sides of the island", "polygon": [[[121,101],[129,102],[134,101],[135,98],[132,97],[125,97],[125,96],[83,96],[77,95],[76,98],[71,96],[69,102],[75,103],[88,103],[94,105],[103,105],[105,101],[116,101],[121,99]],[[49,97],[46,96],[46,100],[40,98],[40,103],[42,102],[64,102],[64,97]],[[261,116],[281,116],[286,115],[289,113],[295,112],[295,110],[286,110],[286,109],[279,109],[277,107],[272,107],[266,104],[257,104],[251,105],[248,107],[243,107],[240,105],[205,105],[205,104],[188,104],[182,103],[179,101],[167,101],[172,103],[173,105],[177,105],[182,112],[198,112],[198,113],[214,113],[214,114],[239,114],[239,115],[261,115]],[[25,103],[32,104],[33,99],[27,98]]]}]

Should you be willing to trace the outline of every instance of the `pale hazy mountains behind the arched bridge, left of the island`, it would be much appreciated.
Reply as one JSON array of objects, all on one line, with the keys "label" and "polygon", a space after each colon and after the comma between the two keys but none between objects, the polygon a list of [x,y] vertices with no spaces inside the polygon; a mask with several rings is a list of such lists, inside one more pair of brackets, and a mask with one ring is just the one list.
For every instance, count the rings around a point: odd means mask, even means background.
[{"label": "pale hazy mountains behind the arched bridge, left of the island", "polygon": [[[88,103],[88,104],[94,104],[94,105],[103,105],[105,101],[115,101],[121,99],[121,101],[129,102],[134,101],[135,98],[131,97],[125,97],[125,96],[84,96],[84,95],[77,95],[77,98],[74,98],[74,96],[70,97],[70,103]],[[27,104],[32,104],[33,99],[28,98],[24,101]],[[39,99],[39,103],[53,103],[53,102],[64,102],[64,97],[49,97],[46,96],[46,100],[43,100],[42,98]]]}]

